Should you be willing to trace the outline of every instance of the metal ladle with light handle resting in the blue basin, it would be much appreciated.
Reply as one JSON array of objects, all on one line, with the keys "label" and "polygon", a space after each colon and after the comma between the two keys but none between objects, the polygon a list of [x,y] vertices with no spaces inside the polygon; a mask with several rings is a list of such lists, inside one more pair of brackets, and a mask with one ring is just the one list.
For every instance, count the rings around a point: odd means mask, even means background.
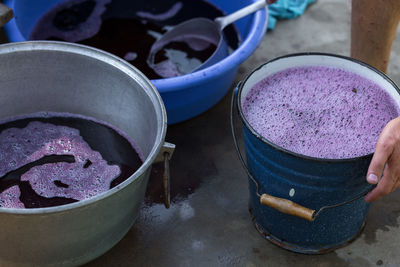
[{"label": "metal ladle with light handle resting in the blue basin", "polygon": [[174,41],[184,41],[185,39],[187,40],[189,38],[194,38],[196,40],[201,40],[206,43],[214,44],[217,48],[206,61],[192,68],[182,68],[180,66],[182,62],[173,63],[182,74],[187,74],[211,66],[212,64],[220,61],[229,54],[228,46],[223,38],[223,29],[232,22],[235,22],[236,20],[244,16],[247,16],[261,8],[264,8],[267,5],[267,2],[269,1],[259,0],[249,6],[239,9],[238,11],[228,16],[218,17],[214,20],[210,20],[207,18],[194,18],[174,26],[152,45],[149,56],[147,58],[149,65],[155,65],[155,55],[167,44]]}]

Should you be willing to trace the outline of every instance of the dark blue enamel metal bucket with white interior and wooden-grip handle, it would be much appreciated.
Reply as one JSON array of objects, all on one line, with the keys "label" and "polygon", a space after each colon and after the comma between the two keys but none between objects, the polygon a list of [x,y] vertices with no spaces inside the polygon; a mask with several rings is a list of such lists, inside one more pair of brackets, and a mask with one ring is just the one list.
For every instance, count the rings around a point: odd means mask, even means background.
[{"label": "dark blue enamel metal bucket with white interior and wooden-grip handle", "polygon": [[[385,74],[354,59],[320,53],[274,59],[254,70],[236,88],[249,176],[250,212],[265,238],[285,249],[322,254],[345,246],[361,232],[369,208],[363,196],[372,154],[351,159],[320,159],[290,152],[261,137],[247,122],[242,103],[263,78],[290,67],[338,67],[366,77],[387,90],[400,105],[399,89]],[[294,216],[293,216],[294,215]],[[306,220],[304,220],[306,219]]]}]

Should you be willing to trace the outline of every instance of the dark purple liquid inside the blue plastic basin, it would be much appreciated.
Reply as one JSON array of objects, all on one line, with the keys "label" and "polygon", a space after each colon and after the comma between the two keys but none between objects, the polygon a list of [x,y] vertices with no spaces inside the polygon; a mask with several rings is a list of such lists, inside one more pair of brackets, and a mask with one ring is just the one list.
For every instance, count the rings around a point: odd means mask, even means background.
[{"label": "dark purple liquid inside the blue plastic basin", "polygon": [[[160,79],[190,72],[212,55],[216,45],[186,38],[164,47],[153,65],[147,58],[156,39],[166,29],[188,19],[214,19],[223,15],[206,1],[66,0],[39,19],[29,39],[96,47],[124,58],[147,78]],[[237,48],[239,39],[235,28],[229,25],[224,33],[232,50]]]}]

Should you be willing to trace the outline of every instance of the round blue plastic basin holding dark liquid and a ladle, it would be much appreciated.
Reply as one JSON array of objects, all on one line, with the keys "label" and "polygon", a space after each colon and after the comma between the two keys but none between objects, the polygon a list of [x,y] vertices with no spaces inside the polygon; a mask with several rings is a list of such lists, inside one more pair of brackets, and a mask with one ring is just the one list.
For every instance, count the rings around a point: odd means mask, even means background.
[{"label": "round blue plastic basin holding dark liquid and a ladle", "polygon": [[[5,0],[15,18],[4,26],[10,42],[27,40],[39,18],[62,0]],[[210,0],[226,14],[254,2],[253,0]],[[231,88],[239,65],[260,44],[267,28],[267,8],[235,23],[242,43],[232,54],[215,65],[180,77],[151,80],[161,94],[168,123],[190,119],[215,105]]]}]

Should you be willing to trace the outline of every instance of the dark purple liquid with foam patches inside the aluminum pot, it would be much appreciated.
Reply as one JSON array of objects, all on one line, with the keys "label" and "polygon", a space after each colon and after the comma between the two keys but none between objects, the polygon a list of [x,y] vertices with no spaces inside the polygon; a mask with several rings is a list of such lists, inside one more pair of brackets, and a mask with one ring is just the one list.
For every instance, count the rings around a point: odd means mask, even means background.
[{"label": "dark purple liquid with foam patches inside the aluminum pot", "polygon": [[57,206],[106,192],[140,167],[137,151],[121,131],[79,115],[38,113],[3,121],[0,207]]}]

